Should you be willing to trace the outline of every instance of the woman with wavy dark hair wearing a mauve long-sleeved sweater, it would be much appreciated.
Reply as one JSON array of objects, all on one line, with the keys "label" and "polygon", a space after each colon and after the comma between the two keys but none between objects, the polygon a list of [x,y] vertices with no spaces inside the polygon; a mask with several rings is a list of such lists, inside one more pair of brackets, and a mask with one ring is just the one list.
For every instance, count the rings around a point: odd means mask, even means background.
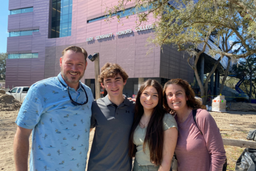
[{"label": "woman with wavy dark hair wearing a mauve long-sleeved sweater", "polygon": [[[226,152],[219,128],[211,114],[201,109],[187,81],[172,79],[165,84],[164,107],[176,113],[178,170],[222,171]],[[192,109],[197,109],[196,123],[199,128],[193,119]]]}]

